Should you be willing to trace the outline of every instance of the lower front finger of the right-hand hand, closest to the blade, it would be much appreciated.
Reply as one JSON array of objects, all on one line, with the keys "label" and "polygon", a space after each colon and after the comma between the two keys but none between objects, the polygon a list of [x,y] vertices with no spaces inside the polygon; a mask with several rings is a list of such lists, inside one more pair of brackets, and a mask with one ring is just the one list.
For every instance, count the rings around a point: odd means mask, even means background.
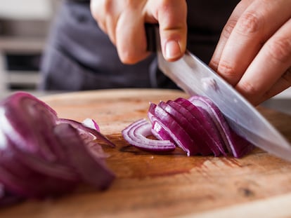
[{"label": "lower front finger of the right-hand hand, closest to the blade", "polygon": [[235,88],[253,104],[291,86],[291,19],[266,41]]}]

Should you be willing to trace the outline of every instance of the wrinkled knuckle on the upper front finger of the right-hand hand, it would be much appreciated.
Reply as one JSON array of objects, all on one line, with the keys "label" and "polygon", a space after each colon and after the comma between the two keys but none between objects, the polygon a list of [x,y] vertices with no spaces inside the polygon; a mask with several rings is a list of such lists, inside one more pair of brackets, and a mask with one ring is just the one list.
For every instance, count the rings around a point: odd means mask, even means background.
[{"label": "wrinkled knuckle on the upper front finger of the right-hand hand", "polygon": [[243,13],[237,23],[237,31],[240,34],[252,34],[261,29],[263,25],[263,18],[258,16],[255,12]]}]

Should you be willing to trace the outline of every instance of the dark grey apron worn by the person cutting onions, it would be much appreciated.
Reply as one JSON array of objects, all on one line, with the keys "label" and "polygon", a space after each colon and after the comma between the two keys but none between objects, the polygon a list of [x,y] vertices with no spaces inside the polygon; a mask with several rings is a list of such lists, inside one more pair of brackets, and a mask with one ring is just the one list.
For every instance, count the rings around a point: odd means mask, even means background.
[{"label": "dark grey apron worn by the person cutting onions", "polygon": [[[189,0],[188,49],[209,62],[238,0]],[[177,88],[157,68],[155,55],[138,64],[119,61],[115,46],[93,20],[89,2],[64,1],[41,64],[43,90]]]}]

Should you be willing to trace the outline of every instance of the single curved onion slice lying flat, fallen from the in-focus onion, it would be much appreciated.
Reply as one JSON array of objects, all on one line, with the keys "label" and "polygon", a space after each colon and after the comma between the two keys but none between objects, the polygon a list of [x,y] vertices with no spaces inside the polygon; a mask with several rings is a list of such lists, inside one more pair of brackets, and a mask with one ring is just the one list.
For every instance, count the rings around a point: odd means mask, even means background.
[{"label": "single curved onion slice lying flat, fallen from the in-focus onion", "polygon": [[168,152],[174,151],[176,146],[169,140],[156,140],[147,138],[151,135],[151,124],[145,119],[131,123],[127,128],[122,130],[124,139],[129,144],[146,151]]}]

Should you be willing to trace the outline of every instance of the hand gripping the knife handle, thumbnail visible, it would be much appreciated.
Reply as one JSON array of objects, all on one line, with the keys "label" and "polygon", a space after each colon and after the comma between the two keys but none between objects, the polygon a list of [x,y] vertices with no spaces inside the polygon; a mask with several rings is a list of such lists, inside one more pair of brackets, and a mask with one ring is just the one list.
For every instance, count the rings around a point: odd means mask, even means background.
[{"label": "hand gripping the knife handle, thumbnail visible", "polygon": [[146,51],[146,22],[160,25],[161,48],[166,60],[177,60],[185,53],[185,0],[91,0],[91,13],[125,64],[134,64],[150,54]]}]

